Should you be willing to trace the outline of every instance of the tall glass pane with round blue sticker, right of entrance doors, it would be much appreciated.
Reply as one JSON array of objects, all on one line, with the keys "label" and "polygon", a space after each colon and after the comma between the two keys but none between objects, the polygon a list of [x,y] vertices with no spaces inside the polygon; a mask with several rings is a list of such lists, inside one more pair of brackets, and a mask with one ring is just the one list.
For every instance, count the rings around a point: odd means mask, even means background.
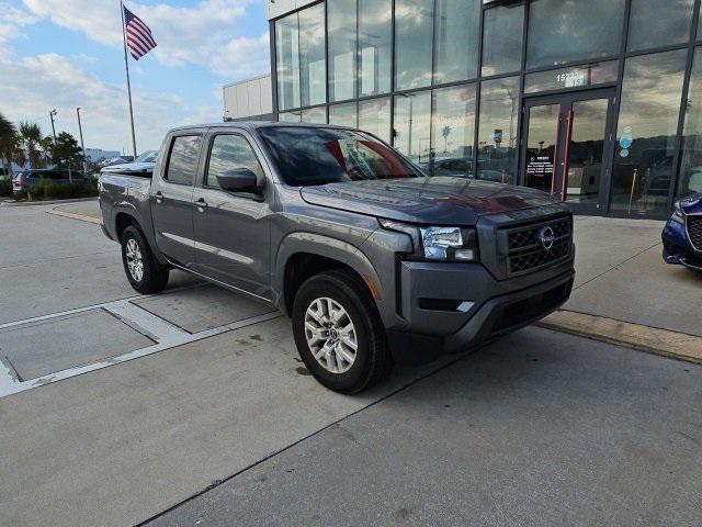
[{"label": "tall glass pane with round blue sticker, right of entrance doors", "polygon": [[687,49],[629,58],[618,124],[610,210],[665,212]]}]

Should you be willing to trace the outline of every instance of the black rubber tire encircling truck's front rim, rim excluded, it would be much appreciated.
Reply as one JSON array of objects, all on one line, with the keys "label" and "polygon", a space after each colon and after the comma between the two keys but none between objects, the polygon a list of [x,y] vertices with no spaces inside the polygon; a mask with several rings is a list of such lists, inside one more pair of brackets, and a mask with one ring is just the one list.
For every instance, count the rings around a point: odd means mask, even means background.
[{"label": "black rubber tire encircling truck's front rim, rim excluded", "polygon": [[[329,371],[315,358],[305,335],[307,309],[315,300],[322,298],[341,305],[355,329],[355,359],[350,369],[341,373]],[[328,271],[303,283],[295,295],[292,322],[299,357],[315,379],[329,390],[358,393],[378,383],[393,370],[385,328],[375,303],[364,284],[351,272]]]}]

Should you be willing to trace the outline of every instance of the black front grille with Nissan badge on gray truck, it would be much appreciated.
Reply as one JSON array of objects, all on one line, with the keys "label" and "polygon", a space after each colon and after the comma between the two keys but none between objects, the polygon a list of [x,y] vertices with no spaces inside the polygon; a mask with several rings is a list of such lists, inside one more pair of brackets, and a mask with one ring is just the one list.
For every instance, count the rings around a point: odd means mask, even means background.
[{"label": "black front grille with Nissan badge on gray truck", "polygon": [[509,274],[536,271],[567,259],[571,239],[573,220],[569,216],[508,229]]}]

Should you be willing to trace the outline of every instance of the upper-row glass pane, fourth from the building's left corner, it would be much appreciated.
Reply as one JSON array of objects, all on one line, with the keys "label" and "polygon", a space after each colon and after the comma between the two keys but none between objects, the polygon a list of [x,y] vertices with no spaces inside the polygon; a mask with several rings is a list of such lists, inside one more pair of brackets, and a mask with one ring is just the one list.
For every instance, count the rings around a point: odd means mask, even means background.
[{"label": "upper-row glass pane, fourth from the building's left corner", "polygon": [[359,0],[360,96],[390,91],[392,0]]}]

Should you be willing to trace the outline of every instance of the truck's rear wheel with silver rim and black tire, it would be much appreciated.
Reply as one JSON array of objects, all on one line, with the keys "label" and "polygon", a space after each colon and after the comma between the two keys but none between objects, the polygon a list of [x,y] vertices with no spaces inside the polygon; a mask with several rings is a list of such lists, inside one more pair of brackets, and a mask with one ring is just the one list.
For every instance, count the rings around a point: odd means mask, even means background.
[{"label": "truck's rear wheel with silver rim and black tire", "polygon": [[122,234],[122,264],[129,283],[139,293],[158,293],[168,283],[168,267],[159,266],[144,234],[134,225]]}]

